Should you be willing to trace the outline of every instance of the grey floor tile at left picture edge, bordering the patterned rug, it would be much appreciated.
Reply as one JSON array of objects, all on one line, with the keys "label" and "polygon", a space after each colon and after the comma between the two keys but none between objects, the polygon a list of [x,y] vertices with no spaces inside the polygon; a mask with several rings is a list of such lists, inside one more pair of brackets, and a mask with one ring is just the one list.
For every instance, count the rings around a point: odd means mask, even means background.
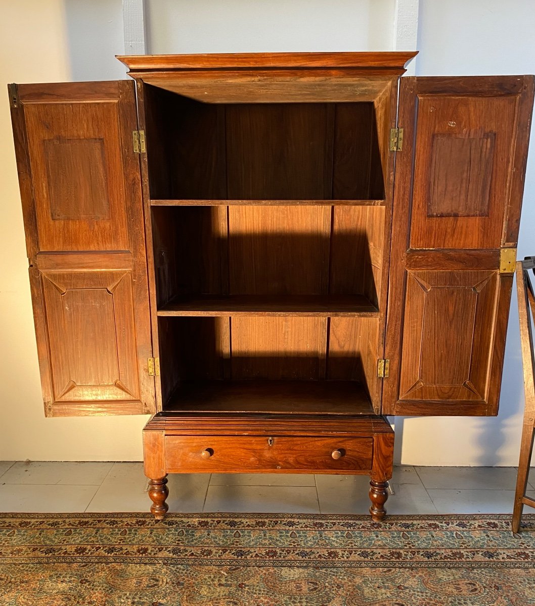
[{"label": "grey floor tile at left picture edge, bordering the patterned rug", "polygon": [[92,485],[2,484],[0,511],[72,513],[84,511],[97,490]]}]

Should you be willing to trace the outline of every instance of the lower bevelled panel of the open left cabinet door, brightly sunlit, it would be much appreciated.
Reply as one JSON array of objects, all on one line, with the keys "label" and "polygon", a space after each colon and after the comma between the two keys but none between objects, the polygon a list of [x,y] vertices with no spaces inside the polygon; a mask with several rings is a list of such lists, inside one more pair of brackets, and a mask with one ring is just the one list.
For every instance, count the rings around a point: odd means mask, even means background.
[{"label": "lower bevelled panel of the open left cabinet door, brightly sunlit", "polygon": [[54,402],[138,401],[129,271],[43,273]]}]

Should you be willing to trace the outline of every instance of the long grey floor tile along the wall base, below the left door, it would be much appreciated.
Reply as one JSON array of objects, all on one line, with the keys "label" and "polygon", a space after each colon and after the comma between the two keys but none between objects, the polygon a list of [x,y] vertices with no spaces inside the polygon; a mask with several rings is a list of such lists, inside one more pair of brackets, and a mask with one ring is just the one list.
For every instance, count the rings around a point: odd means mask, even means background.
[{"label": "long grey floor tile along the wall base, below the left door", "polygon": [[17,461],[0,478],[5,484],[100,485],[113,463]]}]

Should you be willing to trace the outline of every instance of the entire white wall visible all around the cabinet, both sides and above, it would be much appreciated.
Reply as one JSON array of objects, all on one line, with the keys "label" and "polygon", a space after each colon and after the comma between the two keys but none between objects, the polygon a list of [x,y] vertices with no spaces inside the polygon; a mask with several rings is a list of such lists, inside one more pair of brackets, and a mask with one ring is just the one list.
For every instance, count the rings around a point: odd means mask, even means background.
[{"label": "entire white wall visible all around the cabinet, both sides and above", "polygon": [[[394,0],[146,0],[148,52],[391,50],[393,12]],[[420,0],[417,73],[534,73],[534,31],[532,0]],[[0,87],[122,78],[113,55],[123,50],[119,0],[2,2]],[[532,152],[519,258],[535,253],[534,158]],[[144,416],[44,419],[5,93],[0,163],[0,459],[140,460]],[[513,299],[498,418],[398,419],[398,461],[517,464],[523,400],[515,306]]]}]

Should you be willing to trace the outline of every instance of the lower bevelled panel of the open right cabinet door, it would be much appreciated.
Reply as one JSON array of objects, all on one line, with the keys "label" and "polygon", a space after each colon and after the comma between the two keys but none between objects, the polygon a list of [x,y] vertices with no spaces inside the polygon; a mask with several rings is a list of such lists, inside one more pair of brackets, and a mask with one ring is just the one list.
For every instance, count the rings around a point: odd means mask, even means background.
[{"label": "lower bevelled panel of the open right cabinet door", "polygon": [[497,278],[496,271],[409,271],[400,399],[485,401]]}]

